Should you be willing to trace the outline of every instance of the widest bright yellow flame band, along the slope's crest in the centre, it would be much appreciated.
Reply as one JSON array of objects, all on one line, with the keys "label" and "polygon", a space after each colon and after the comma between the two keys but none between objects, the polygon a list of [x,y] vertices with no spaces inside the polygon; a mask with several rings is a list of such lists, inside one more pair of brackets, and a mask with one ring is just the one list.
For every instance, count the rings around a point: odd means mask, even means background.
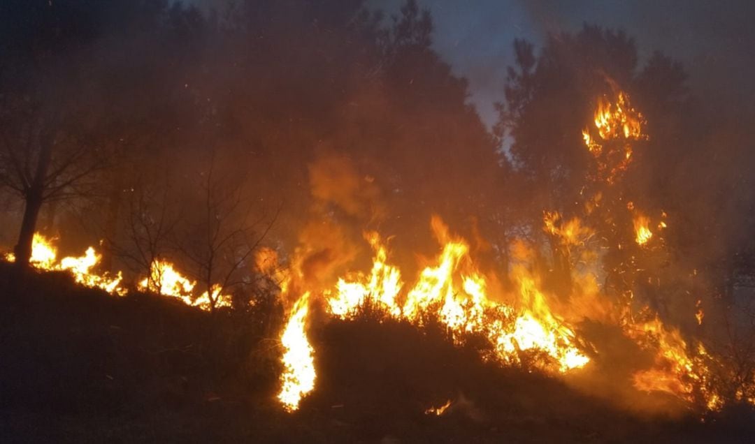
[{"label": "widest bright yellow flame band, along the slope's crest in the centre", "polygon": [[[424,268],[405,290],[402,305],[396,303],[402,290],[400,271],[387,264],[387,252],[377,234],[365,237],[375,251],[372,272],[341,278],[334,289],[323,292],[330,314],[349,318],[365,302],[373,302],[396,319],[421,326],[433,314],[452,336],[461,341],[465,333],[482,333],[495,348],[498,360],[519,363],[522,351],[541,351],[553,360],[559,372],[578,369],[590,359],[574,345],[575,333],[563,325],[547,304],[545,295],[525,268],[516,268],[522,308],[488,298],[485,277],[474,268],[467,242],[451,238],[439,218],[433,218],[436,237],[445,241],[433,265]],[[501,317],[512,321],[504,322]]]}]

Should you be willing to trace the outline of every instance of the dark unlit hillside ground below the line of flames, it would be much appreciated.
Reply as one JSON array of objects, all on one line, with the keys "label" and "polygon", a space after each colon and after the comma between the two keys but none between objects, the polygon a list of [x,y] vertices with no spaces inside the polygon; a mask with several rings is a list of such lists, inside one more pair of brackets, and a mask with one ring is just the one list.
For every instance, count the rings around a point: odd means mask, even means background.
[{"label": "dark unlit hillside ground below the line of flames", "polygon": [[[371,316],[317,323],[316,390],[276,402],[274,305],[211,316],[0,265],[2,442],[751,442],[751,412],[641,418]],[[442,416],[430,406],[453,400]]]}]

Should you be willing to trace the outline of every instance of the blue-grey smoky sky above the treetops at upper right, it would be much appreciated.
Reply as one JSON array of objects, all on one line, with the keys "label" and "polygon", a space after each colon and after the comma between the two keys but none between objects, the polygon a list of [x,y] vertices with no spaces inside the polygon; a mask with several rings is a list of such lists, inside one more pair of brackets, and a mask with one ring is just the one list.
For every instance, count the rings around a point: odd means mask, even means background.
[{"label": "blue-grey smoky sky above the treetops at upper right", "polygon": [[[371,2],[396,11],[402,0]],[[640,65],[653,51],[679,60],[693,93],[720,106],[747,107],[755,97],[755,2],[688,0],[419,0],[435,23],[433,44],[454,72],[470,81],[471,100],[486,124],[504,98],[512,42],[541,47],[549,33],[584,23],[623,29],[634,38]]]}]

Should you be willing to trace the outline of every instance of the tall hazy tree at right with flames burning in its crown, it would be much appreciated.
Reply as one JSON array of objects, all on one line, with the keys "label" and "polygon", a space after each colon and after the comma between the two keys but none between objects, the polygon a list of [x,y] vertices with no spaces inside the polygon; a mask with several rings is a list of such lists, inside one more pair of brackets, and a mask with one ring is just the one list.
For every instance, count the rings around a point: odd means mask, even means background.
[{"label": "tall hazy tree at right with flames burning in its crown", "polygon": [[[496,131],[501,138],[513,139],[510,156],[529,197],[521,210],[532,233],[551,246],[552,271],[546,285],[568,295],[572,288],[569,277],[578,257],[571,257],[570,249],[558,237],[541,228],[543,210],[559,213],[563,222],[578,216],[595,229],[592,243],[602,247],[604,291],[627,301],[634,292],[658,305],[660,290],[641,282],[657,277],[669,258],[661,250],[635,245],[631,208],[654,214],[667,208],[660,206],[663,199],[658,190],[649,186],[654,180],[651,172],[660,173],[652,158],[668,156],[664,150],[669,139],[657,138],[656,130],[670,127],[668,123],[681,115],[675,104],[684,100],[683,70],[660,54],[638,70],[633,39],[598,26],[586,25],[575,35],[550,35],[537,56],[532,44],[525,41],[515,41],[514,50],[516,66],[509,69],[506,103],[498,106],[501,118]],[[625,109],[643,113],[638,119],[650,134],[649,139],[643,135],[633,141],[627,162],[622,160],[625,142],[621,138],[604,142],[601,151],[594,153],[586,149],[582,138],[599,103],[616,103],[620,93],[627,98]],[[650,127],[645,124],[645,106],[652,115],[649,120],[657,119]],[[666,157],[666,167],[668,161]],[[617,168],[606,170],[611,164]],[[590,210],[585,210],[588,207]]]}]

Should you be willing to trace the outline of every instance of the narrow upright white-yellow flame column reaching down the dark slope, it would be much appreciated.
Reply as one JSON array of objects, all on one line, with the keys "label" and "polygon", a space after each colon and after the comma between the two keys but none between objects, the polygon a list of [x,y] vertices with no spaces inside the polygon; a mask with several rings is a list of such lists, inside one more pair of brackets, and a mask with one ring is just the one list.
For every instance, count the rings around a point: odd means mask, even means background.
[{"label": "narrow upright white-yellow flame column reaching down the dark slope", "polygon": [[281,336],[284,371],[282,388],[278,399],[288,412],[299,408],[304,395],[315,388],[314,349],[307,339],[307,312],[310,293],[305,292],[291,308],[285,329]]}]

